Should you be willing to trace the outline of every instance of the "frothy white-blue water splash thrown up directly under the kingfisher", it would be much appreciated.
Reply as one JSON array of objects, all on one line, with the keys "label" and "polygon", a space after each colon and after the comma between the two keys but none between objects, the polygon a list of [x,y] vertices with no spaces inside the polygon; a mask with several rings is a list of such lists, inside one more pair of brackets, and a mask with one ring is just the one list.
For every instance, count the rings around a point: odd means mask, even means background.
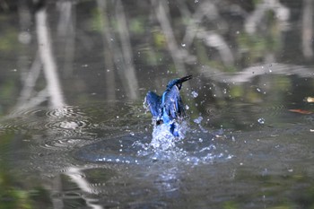
[{"label": "frothy white-blue water splash thrown up directly under the kingfisher", "polygon": [[228,149],[215,142],[217,137],[219,140],[226,139],[223,131],[210,133],[200,125],[202,120],[201,116],[194,120],[198,128],[196,126],[190,128],[188,120],[175,122],[179,137],[171,135],[168,125],[153,126],[151,143],[142,144],[140,141],[135,143],[137,147],[139,145],[141,147],[137,151],[137,157],[146,161],[181,161],[192,164],[230,160],[233,155]]}]

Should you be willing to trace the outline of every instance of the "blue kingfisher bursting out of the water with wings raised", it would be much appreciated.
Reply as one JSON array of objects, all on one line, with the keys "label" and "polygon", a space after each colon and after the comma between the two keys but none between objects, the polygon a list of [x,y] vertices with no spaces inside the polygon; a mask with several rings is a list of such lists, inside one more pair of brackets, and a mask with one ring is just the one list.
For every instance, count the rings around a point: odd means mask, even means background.
[{"label": "blue kingfisher bursting out of the water with wings raised", "polygon": [[148,91],[145,97],[145,103],[156,120],[156,126],[166,124],[170,126],[170,133],[179,136],[176,130],[176,122],[179,118],[185,117],[185,108],[179,95],[182,83],[192,79],[192,75],[171,80],[167,84],[166,90],[161,96],[153,91]]}]

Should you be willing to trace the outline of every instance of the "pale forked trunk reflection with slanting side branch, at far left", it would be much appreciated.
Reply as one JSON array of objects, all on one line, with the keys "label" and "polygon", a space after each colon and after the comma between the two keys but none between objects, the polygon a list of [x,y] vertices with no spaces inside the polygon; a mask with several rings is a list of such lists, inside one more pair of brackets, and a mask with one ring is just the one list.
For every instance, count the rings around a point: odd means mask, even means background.
[{"label": "pale forked trunk reflection with slanting side branch, at far left", "polygon": [[[49,99],[51,108],[59,108],[65,105],[61,84],[57,73],[57,64],[52,50],[47,11],[39,7],[35,13],[36,34],[38,41],[38,56],[24,80],[24,88],[17,109],[33,108],[42,101]],[[35,83],[39,78],[39,71],[44,72],[47,87],[32,96]]]}]

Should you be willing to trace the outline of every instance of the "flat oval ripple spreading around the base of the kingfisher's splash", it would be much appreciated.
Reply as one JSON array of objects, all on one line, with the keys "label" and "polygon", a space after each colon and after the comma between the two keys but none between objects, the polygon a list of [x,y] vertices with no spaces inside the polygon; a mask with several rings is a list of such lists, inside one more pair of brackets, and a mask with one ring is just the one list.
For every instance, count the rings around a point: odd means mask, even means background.
[{"label": "flat oval ripple spreading around the base of the kingfisher's splash", "polygon": [[[204,140],[200,140],[203,137]],[[229,139],[225,139],[230,141]],[[111,162],[126,164],[150,164],[154,161],[184,161],[186,163],[212,163],[228,160],[232,155],[215,135],[193,133],[186,139],[173,142],[167,149],[160,149],[151,143],[148,133],[123,135],[102,139],[78,149],[74,157],[80,161]]]}]

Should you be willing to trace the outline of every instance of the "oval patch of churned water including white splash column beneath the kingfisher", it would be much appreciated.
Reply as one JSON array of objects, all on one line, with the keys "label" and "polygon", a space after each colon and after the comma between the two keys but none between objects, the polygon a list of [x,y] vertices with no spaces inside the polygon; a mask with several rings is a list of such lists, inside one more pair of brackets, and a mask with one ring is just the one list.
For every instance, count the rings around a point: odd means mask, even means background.
[{"label": "oval patch of churned water including white splash column beneath the kingfisher", "polygon": [[152,135],[147,132],[120,135],[100,139],[76,152],[83,161],[151,164],[161,162],[212,163],[229,160],[233,155],[226,144],[231,140],[223,133],[214,134],[197,126],[190,128],[188,121],[176,124],[179,137],[170,134],[169,126],[153,126]]}]

